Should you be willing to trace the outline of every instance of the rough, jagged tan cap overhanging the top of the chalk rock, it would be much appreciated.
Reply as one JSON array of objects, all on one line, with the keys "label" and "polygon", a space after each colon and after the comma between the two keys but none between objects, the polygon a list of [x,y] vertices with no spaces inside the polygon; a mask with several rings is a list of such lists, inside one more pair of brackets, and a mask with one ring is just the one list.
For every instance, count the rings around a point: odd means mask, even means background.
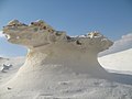
[{"label": "rough, jagged tan cap overhanging the top of the chalk rock", "polygon": [[112,45],[112,42],[99,32],[72,37],[64,31],[56,31],[42,20],[31,22],[29,25],[13,20],[3,28],[3,33],[9,42],[30,48],[65,42],[76,47],[97,48],[98,52],[101,52]]}]

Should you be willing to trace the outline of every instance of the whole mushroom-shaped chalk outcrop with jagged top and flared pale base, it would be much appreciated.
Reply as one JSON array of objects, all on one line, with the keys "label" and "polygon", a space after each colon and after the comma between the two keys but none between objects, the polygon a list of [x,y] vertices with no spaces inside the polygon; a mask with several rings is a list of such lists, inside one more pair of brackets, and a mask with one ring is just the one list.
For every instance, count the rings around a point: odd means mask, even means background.
[{"label": "whole mushroom-shaped chalk outcrop with jagged top and flared pale base", "polygon": [[68,80],[78,74],[109,78],[97,54],[112,42],[98,32],[72,37],[41,20],[29,25],[14,20],[3,28],[3,33],[9,42],[29,48],[24,65],[6,85],[12,89],[43,88],[45,80]]}]

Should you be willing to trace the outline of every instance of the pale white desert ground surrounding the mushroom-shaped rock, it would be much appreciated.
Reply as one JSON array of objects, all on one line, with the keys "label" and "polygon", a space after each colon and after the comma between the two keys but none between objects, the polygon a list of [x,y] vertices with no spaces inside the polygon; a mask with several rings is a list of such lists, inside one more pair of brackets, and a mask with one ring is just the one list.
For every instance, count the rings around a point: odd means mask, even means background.
[{"label": "pale white desert ground surrounding the mushroom-shaped rock", "polygon": [[[73,74],[72,77],[67,74],[63,78],[61,77],[61,75],[58,75],[58,77],[54,79],[45,78],[46,80],[43,82],[43,86],[45,86],[44,89],[42,89],[41,87],[32,89],[30,91],[19,89],[6,89],[7,92],[2,92],[2,90],[0,90],[0,96],[3,96],[3,98],[0,99],[132,99],[131,55],[132,48],[98,58],[99,63],[105,68],[109,69],[109,72],[121,74],[122,77],[119,77],[121,78],[120,82],[114,80],[109,81],[106,79],[92,78],[88,77],[87,75]],[[16,74],[24,61],[24,57],[0,59],[1,68],[2,64],[13,65],[9,70],[7,70],[7,73],[0,73],[0,86],[4,85]],[[54,77],[54,75],[51,76]],[[57,79],[61,79],[62,81],[57,81]],[[37,82],[37,79],[34,81]],[[18,82],[21,81],[16,80],[15,85]]]}]

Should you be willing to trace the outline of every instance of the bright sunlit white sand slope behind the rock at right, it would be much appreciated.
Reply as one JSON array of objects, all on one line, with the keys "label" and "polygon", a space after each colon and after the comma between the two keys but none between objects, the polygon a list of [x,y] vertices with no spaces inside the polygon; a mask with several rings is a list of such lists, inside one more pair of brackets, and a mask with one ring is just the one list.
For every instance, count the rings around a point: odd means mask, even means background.
[{"label": "bright sunlit white sand slope behind the rock at right", "polygon": [[132,72],[132,48],[106,55],[99,58],[101,66],[108,69]]}]

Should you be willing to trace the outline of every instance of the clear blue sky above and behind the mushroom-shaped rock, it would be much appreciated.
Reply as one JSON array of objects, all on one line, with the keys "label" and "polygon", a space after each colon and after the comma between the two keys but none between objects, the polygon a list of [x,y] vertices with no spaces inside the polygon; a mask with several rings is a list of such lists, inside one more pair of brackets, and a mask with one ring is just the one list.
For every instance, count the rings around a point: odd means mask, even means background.
[{"label": "clear blue sky above and behind the mushroom-shaped rock", "polygon": [[[132,33],[132,0],[0,0],[0,30],[10,20],[44,20],[69,35],[100,31],[111,40]],[[0,55],[24,55],[25,50],[0,37]]]}]

